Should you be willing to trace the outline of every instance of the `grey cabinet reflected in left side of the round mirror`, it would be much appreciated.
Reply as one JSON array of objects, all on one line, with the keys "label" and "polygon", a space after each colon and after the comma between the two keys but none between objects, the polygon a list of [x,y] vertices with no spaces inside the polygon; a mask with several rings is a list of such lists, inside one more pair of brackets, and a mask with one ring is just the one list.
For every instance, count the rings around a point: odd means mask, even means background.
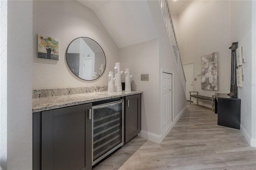
[{"label": "grey cabinet reflected in left side of the round mirror", "polygon": [[79,56],[77,53],[67,53],[68,65],[76,76],[79,75]]}]

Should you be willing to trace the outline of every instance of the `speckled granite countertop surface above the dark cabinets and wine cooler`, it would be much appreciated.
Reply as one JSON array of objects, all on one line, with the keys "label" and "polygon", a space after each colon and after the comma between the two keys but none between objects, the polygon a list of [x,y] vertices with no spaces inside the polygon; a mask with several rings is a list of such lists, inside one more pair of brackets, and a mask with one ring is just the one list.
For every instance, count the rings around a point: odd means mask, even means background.
[{"label": "speckled granite countertop surface above the dark cabinets and wine cooler", "polygon": [[112,99],[116,97],[123,97],[143,93],[142,91],[100,91],[91,93],[79,93],[72,95],[59,95],[49,97],[39,97],[32,99],[32,112],[48,111],[62,107],[81,105],[91,103],[94,101],[101,101]]}]

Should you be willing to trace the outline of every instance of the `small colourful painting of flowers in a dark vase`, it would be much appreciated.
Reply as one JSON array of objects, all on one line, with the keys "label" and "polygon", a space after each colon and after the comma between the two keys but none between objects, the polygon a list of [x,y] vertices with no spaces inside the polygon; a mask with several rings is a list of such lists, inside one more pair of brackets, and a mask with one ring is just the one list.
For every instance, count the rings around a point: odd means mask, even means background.
[{"label": "small colourful painting of flowers in a dark vase", "polygon": [[50,36],[38,34],[38,58],[59,60],[59,42]]}]

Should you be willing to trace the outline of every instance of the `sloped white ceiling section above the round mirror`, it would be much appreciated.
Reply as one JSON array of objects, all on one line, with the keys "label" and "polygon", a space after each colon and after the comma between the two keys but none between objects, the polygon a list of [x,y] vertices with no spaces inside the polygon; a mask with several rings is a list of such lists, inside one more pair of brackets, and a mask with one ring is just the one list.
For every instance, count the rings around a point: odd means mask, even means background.
[{"label": "sloped white ceiling section above the round mirror", "polygon": [[92,9],[119,48],[158,38],[146,0],[78,0]]}]

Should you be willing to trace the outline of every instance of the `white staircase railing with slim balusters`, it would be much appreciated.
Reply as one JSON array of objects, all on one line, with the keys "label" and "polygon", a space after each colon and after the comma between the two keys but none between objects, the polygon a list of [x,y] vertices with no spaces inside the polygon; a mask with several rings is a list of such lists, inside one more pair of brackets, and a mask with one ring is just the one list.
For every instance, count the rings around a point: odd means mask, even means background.
[{"label": "white staircase railing with slim balusters", "polygon": [[168,2],[167,0],[158,0],[158,5],[162,10],[162,17],[166,24],[166,32],[168,33],[168,36],[169,36],[170,44],[174,54],[174,59],[176,61],[178,74],[180,76],[180,81],[182,82],[184,91],[186,91],[186,77],[185,77],[182,61],[180,58],[178,42],[177,42]]}]

